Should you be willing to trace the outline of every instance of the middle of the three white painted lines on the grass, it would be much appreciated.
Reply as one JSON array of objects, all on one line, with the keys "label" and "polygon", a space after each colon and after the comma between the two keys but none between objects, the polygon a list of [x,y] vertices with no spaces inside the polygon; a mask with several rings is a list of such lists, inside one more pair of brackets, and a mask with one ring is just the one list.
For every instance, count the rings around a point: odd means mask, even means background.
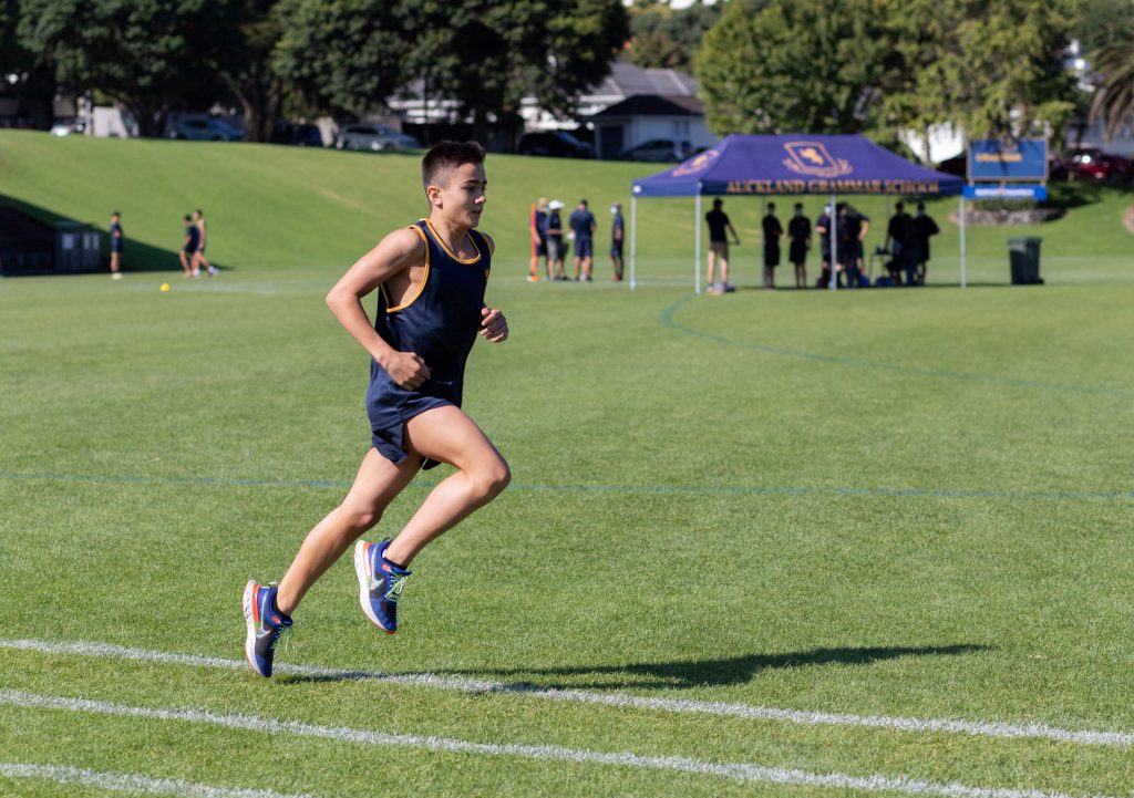
[{"label": "middle of the three white painted lines on the grass", "polygon": [[[1032,789],[1006,789],[997,787],[970,787],[956,782],[943,783],[923,781],[908,776],[871,774],[865,776],[847,773],[810,773],[788,767],[772,767],[751,763],[718,763],[684,756],[642,756],[629,752],[607,753],[587,748],[565,748],[561,746],[519,745],[514,742],[472,742],[446,737],[422,735],[390,735],[349,727],[315,725],[302,721],[281,721],[256,715],[221,715],[204,710],[158,710],[147,706],[111,704],[102,701],[44,696],[20,690],[0,689],[0,704],[43,710],[64,710],[100,715],[145,718],[158,721],[181,721],[242,729],[269,735],[295,735],[314,737],[339,742],[369,746],[399,746],[443,752],[448,754],[473,754],[481,756],[514,756],[542,762],[574,762],[577,764],[616,765],[640,770],[670,771],[695,775],[717,775],[746,782],[772,784],[797,784],[868,792],[892,791],[916,796],[945,796],[947,798],[1072,798],[1066,792],[1044,792]],[[1093,798],[1107,798],[1094,796]]]}]

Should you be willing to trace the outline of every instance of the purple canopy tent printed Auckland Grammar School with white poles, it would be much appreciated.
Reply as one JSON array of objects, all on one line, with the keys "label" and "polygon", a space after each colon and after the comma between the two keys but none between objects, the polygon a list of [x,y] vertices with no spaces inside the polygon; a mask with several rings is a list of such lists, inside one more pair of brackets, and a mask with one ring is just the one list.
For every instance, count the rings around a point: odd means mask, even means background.
[{"label": "purple canopy tent printed Auckland Grammar School with white poles", "polygon": [[[693,288],[701,292],[701,197],[830,195],[946,196],[960,194],[964,180],[911,163],[865,136],[733,134],[717,146],[659,175],[633,184],[631,198],[631,290],[636,286],[638,197],[695,197]],[[831,218],[831,261],[836,219]],[[965,285],[965,201],[960,200],[960,285]],[[836,286],[835,270],[831,283]]]}]

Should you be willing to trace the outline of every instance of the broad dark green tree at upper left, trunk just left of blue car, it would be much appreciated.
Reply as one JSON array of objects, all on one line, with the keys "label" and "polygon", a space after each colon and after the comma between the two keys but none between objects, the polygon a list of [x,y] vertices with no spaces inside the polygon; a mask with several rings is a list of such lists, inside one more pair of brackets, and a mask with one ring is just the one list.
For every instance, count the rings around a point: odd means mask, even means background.
[{"label": "broad dark green tree at upper left, trunk just left of blue car", "polygon": [[166,114],[219,93],[208,48],[227,18],[223,0],[24,0],[20,45],[59,85],[119,101],[142,135],[160,135]]}]

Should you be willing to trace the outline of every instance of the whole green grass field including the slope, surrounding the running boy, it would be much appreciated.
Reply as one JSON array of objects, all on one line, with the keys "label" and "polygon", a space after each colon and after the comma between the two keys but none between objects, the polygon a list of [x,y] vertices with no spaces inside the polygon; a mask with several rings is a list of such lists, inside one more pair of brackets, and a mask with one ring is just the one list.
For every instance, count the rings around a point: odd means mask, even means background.
[{"label": "whole green grass field including the slope, surrounding the running boy", "polygon": [[[730,200],[742,290],[693,296],[692,203],[643,202],[632,294],[604,263],[525,282],[524,220],[587,196],[606,230],[650,167],[491,156],[511,340],[474,348],[466,409],[514,483],[415,561],[397,636],[344,560],[293,670],[243,669],[245,580],[369,443],[366,356],[322,297],[422,212],[416,169],[0,134],[0,202],[117,207],[135,269],[0,281],[0,795],[1134,792],[1117,190],[971,230],[964,290],[934,204],[939,287],[836,295],[751,290],[759,202]],[[187,283],[197,206],[225,271]],[[1021,234],[1044,287],[1006,286]]]}]

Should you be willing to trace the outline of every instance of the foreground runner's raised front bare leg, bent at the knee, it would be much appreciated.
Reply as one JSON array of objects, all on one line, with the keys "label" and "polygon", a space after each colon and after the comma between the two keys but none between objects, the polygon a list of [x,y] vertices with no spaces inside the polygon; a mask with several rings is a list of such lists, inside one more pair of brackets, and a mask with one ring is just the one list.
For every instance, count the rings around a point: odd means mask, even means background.
[{"label": "foreground runner's raised front bare leg, bent at the knee", "polygon": [[403,567],[430,541],[496,499],[511,481],[500,452],[459,407],[446,405],[411,418],[406,438],[412,451],[458,470],[433,489],[386,550],[386,559]]}]

